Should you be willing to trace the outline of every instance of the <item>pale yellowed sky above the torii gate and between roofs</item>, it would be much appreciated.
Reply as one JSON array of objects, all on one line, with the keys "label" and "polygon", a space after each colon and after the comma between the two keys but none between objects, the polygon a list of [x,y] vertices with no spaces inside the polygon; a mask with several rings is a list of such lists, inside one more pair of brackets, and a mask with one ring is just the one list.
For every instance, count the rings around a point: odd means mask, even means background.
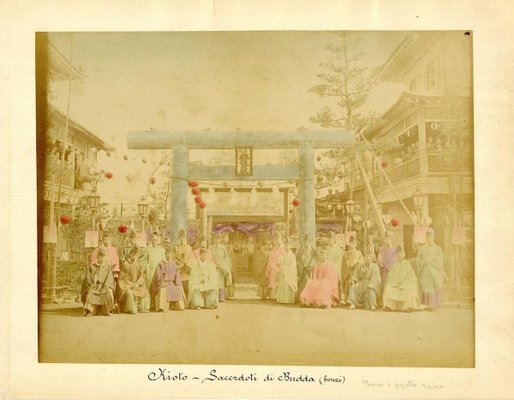
[{"label": "pale yellowed sky above the torii gate and between roofs", "polygon": [[[361,64],[374,69],[406,33],[357,35]],[[119,176],[144,175],[150,163],[142,165],[141,159],[156,158],[155,152],[127,151],[129,131],[314,128],[309,118],[328,102],[308,90],[320,83],[320,63],[330,56],[325,46],[337,36],[328,31],[146,32],[50,33],[49,39],[86,75],[72,85],[70,116],[116,148],[99,162]],[[399,91],[397,85],[379,85],[364,109],[385,111]],[[65,111],[67,82],[53,82],[51,92],[51,102]],[[133,163],[120,169],[124,154]],[[191,159],[201,156],[193,153]]]}]

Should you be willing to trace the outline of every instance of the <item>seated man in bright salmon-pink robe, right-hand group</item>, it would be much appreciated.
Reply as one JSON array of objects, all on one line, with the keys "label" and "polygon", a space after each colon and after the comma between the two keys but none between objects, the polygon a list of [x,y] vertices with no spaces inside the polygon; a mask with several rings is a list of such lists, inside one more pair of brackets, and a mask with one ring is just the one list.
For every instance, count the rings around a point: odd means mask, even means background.
[{"label": "seated man in bright salmon-pink robe, right-hand group", "polygon": [[318,249],[317,262],[305,285],[300,300],[303,306],[329,308],[339,303],[339,291],[335,266],[328,261],[327,250]]}]

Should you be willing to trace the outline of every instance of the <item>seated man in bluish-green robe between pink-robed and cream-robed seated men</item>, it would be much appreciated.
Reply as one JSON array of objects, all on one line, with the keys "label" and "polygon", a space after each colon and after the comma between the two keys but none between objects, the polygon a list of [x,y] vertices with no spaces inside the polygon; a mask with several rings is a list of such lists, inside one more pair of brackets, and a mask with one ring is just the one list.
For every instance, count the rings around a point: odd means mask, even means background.
[{"label": "seated man in bluish-green robe between pink-robed and cream-robed seated men", "polygon": [[374,262],[373,255],[368,254],[364,264],[358,264],[353,272],[352,286],[348,295],[350,309],[364,307],[366,310],[376,310],[380,285],[380,269]]}]

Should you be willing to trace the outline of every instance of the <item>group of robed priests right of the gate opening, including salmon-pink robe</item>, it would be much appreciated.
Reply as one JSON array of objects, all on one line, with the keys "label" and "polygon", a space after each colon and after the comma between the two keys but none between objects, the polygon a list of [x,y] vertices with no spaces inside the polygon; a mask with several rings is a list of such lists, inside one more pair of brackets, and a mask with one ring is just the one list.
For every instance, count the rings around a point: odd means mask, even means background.
[{"label": "group of robed priests right of the gate opening, including salmon-pink robe", "polygon": [[255,255],[257,294],[277,303],[330,308],[433,310],[442,304],[443,252],[429,228],[417,250],[416,270],[401,246],[384,239],[378,254],[365,257],[351,237],[345,250],[334,235],[316,248],[304,240],[296,254],[281,235],[267,241]]}]

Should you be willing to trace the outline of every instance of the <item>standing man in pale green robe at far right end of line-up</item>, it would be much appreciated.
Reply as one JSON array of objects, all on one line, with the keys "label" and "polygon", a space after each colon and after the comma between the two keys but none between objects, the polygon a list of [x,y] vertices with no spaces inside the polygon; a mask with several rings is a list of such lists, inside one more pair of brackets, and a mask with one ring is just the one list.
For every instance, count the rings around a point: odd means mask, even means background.
[{"label": "standing man in pale green robe at far right end of line-up", "polygon": [[416,265],[421,303],[430,311],[441,307],[443,302],[444,255],[434,242],[433,228],[427,229],[426,238],[426,244],[418,250]]}]

